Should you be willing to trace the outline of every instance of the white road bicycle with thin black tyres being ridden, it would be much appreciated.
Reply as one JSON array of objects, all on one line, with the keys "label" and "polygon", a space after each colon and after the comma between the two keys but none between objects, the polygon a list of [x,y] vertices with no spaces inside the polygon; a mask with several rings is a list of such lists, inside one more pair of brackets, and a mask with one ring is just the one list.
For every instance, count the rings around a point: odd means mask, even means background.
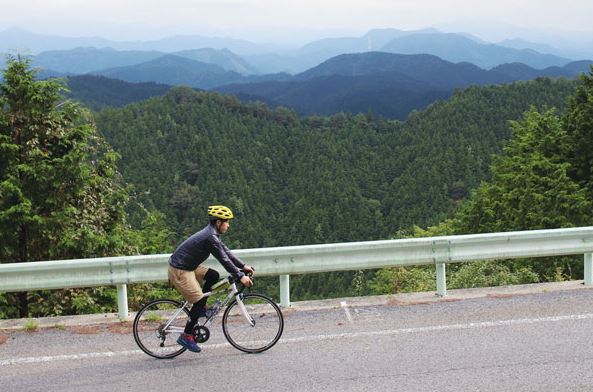
[{"label": "white road bicycle with thin black tyres being ridden", "polygon": [[[193,331],[196,342],[208,341],[208,326],[224,308],[222,331],[233,347],[246,353],[260,353],[274,346],[284,329],[284,317],[278,305],[263,294],[243,293],[245,286],[231,276],[218,281],[204,295],[210,296],[225,289],[227,296],[210,307],[209,317],[203,322],[198,319]],[[164,298],[140,309],[132,328],[140,349],[159,359],[182,354],[186,348],[177,343],[177,338],[189,318],[188,305],[187,301]]]}]

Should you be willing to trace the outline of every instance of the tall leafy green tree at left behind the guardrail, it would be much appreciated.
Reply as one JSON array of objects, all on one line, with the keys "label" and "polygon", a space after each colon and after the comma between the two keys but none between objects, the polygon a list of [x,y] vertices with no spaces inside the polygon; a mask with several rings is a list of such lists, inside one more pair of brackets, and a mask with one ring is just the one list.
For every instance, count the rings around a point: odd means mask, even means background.
[{"label": "tall leafy green tree at left behind the guardrail", "polygon": [[[140,230],[129,227],[118,154],[64,91],[58,80],[36,81],[28,60],[8,58],[0,85],[0,262],[162,249],[169,235],[162,216],[146,213]],[[3,301],[17,306],[3,316],[104,311],[113,298],[109,288],[6,294]]]}]

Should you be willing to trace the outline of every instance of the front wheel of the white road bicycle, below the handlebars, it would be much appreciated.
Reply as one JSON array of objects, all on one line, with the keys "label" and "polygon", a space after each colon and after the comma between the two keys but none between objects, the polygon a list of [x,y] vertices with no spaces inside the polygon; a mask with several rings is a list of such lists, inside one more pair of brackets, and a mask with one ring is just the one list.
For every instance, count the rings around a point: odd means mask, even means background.
[{"label": "front wheel of the white road bicycle, below the handlebars", "polygon": [[[260,353],[271,348],[282,335],[284,317],[274,301],[261,294],[242,294],[224,311],[222,331],[238,350]],[[241,305],[242,304],[242,305]]]}]

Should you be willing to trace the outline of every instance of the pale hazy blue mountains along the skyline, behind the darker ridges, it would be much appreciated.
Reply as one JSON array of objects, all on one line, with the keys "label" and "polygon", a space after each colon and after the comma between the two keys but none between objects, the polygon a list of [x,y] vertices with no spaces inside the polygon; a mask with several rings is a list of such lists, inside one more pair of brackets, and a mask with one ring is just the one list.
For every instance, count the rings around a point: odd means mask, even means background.
[{"label": "pale hazy blue mountains along the skyline, behind the darker ridges", "polygon": [[33,53],[41,67],[62,73],[95,72],[130,66],[154,60],[164,54],[216,64],[242,75],[280,72],[295,74],[340,54],[371,51],[432,54],[453,63],[470,62],[486,69],[515,62],[542,69],[563,66],[573,60],[559,55],[560,51],[549,45],[520,39],[505,42],[508,46],[504,42],[484,42],[470,34],[446,34],[435,29],[375,29],[360,37],[322,39],[301,48],[201,36],[115,42],[102,38],[43,36],[18,29],[0,32],[0,52],[18,49]]}]

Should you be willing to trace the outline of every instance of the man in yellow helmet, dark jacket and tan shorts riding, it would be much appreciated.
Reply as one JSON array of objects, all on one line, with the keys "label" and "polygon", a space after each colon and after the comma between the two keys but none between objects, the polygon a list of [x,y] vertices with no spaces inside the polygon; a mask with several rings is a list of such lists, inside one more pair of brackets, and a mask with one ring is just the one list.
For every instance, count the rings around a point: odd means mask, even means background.
[{"label": "man in yellow helmet, dark jacket and tan shorts riding", "polygon": [[233,217],[233,212],[228,207],[209,206],[209,224],[183,241],[169,259],[169,281],[183,298],[193,304],[184,333],[179,335],[177,343],[196,353],[202,350],[194,340],[193,329],[199,317],[210,316],[206,310],[208,297],[204,297],[204,292],[209,292],[212,285],[220,279],[216,270],[201,264],[212,254],[243,285],[249,287],[253,284],[251,278],[243,273],[245,271],[253,274],[253,267],[245,265],[220,239],[220,235],[229,229],[229,221]]}]

